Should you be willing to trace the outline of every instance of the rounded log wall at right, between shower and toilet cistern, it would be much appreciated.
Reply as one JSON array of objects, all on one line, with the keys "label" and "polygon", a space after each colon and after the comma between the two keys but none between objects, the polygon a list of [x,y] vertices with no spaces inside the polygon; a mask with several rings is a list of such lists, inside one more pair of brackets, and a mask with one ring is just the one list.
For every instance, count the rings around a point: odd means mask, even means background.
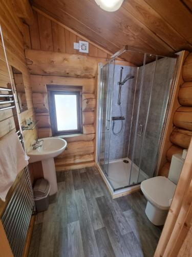
[{"label": "rounded log wall at right, between shower and toilet cistern", "polygon": [[192,53],[183,51],[181,67],[177,75],[177,87],[172,106],[172,114],[166,131],[159,175],[168,176],[173,154],[188,149],[192,137]]}]

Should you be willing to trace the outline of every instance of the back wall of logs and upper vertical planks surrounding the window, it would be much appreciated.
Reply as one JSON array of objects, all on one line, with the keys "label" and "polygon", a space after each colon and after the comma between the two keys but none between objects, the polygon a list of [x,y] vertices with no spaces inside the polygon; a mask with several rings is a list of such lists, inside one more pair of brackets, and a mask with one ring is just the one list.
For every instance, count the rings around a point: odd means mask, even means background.
[{"label": "back wall of logs and upper vertical planks surrounding the window", "polygon": [[[30,39],[30,41],[29,41]],[[34,11],[34,23],[26,34],[28,67],[39,138],[51,136],[46,85],[82,86],[83,134],[64,137],[67,149],[55,158],[57,171],[95,164],[96,76],[98,62],[108,53],[89,44],[89,53],[73,49],[79,36]],[[63,61],[64,60],[64,61]],[[39,163],[38,163],[39,165]]]}]

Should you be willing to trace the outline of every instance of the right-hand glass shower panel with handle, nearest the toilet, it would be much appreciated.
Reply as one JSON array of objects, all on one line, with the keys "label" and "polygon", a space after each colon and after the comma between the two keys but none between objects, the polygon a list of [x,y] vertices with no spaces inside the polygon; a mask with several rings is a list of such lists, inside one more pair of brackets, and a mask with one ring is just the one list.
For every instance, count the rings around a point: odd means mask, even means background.
[{"label": "right-hand glass shower panel with handle, nearest the toilet", "polygon": [[145,54],[138,70],[140,94],[129,185],[153,177],[175,67],[176,59],[172,58],[156,57],[146,64],[151,57]]}]

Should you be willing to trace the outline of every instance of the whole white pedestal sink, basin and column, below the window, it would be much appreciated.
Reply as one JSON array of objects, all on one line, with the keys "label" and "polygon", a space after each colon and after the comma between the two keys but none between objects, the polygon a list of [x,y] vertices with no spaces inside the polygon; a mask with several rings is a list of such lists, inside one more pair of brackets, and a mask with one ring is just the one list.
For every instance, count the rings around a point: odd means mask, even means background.
[{"label": "whole white pedestal sink, basin and column, below the window", "polygon": [[57,137],[47,137],[41,138],[44,140],[40,142],[37,149],[33,150],[32,146],[27,153],[30,157],[29,163],[41,161],[42,162],[42,171],[44,172],[44,178],[47,179],[50,183],[50,195],[53,195],[57,192],[57,178],[55,172],[55,163],[54,157],[62,153],[66,147],[67,142],[64,139]]}]

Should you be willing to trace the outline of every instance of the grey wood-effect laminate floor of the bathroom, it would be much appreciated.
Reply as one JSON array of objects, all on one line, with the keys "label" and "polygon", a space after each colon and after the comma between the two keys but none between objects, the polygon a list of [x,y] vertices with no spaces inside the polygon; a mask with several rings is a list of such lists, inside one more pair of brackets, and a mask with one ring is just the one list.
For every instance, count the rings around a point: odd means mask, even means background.
[{"label": "grey wood-effect laminate floor of the bathroom", "polygon": [[161,230],[140,192],[113,200],[95,168],[57,174],[58,193],[35,219],[29,256],[153,256]]}]

